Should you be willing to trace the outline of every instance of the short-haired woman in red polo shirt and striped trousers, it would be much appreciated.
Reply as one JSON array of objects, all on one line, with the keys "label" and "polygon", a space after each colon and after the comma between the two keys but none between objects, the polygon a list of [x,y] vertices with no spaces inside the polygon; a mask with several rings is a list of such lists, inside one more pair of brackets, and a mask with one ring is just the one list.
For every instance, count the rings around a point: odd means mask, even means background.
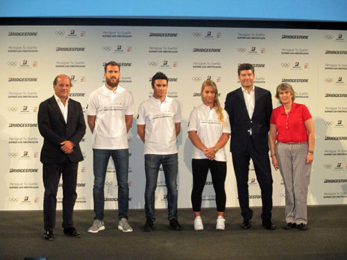
[{"label": "short-haired woman in red polo shirt and striped trousers", "polygon": [[271,114],[269,143],[273,167],[280,169],[285,184],[285,229],[307,230],[314,124],[307,107],[293,102],[295,93],[290,84],[278,85],[276,98],[282,105]]}]

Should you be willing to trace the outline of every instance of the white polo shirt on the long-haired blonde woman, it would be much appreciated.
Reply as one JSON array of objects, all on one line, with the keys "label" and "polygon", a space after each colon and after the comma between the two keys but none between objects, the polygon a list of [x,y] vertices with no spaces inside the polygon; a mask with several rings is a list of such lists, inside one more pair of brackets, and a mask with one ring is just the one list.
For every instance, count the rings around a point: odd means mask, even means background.
[{"label": "white polo shirt on the long-haired blonde woman", "polygon": [[[206,147],[215,146],[224,132],[230,134],[230,121],[226,110],[223,110],[223,116],[225,125],[219,122],[216,107],[212,108],[212,110],[209,106],[204,104],[194,107],[194,110],[189,116],[187,132],[196,131],[196,134]],[[226,162],[226,151],[224,150],[224,147],[218,150],[216,155],[214,155],[216,161]],[[195,146],[192,158],[208,159],[203,151]]]}]

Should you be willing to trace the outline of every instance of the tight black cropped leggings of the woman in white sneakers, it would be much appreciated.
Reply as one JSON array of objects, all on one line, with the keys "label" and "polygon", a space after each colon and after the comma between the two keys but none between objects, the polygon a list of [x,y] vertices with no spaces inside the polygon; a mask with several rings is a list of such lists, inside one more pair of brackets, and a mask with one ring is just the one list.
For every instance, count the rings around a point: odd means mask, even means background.
[{"label": "tight black cropped leggings of the woman in white sneakers", "polygon": [[211,171],[214,192],[216,193],[217,211],[224,212],[226,210],[226,190],[224,189],[226,162],[211,161],[210,159],[192,159],[193,211],[201,211],[201,196],[208,177],[208,169]]}]

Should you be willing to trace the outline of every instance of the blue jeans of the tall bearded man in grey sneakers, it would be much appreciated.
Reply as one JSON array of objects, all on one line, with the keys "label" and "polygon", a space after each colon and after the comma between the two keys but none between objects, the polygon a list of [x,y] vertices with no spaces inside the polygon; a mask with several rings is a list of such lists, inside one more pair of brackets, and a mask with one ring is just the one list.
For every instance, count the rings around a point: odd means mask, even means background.
[{"label": "blue jeans of the tall bearded man in grey sneakers", "polygon": [[118,184],[118,217],[128,218],[129,209],[129,187],[128,187],[128,171],[129,171],[129,150],[104,150],[93,149],[93,168],[94,168],[94,212],[95,218],[103,220],[104,209],[104,189],[105,176],[108,162],[112,157],[115,163],[117,184]]}]

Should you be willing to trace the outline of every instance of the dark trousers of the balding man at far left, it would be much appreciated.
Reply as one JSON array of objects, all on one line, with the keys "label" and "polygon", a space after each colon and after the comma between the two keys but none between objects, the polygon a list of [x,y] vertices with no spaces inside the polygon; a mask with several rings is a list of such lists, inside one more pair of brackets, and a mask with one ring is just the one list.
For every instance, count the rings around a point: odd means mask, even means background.
[{"label": "dark trousers of the balding man at far left", "polygon": [[44,229],[56,227],[57,192],[62,175],[62,227],[74,227],[74,205],[77,198],[78,162],[65,164],[43,164],[44,182]]}]

